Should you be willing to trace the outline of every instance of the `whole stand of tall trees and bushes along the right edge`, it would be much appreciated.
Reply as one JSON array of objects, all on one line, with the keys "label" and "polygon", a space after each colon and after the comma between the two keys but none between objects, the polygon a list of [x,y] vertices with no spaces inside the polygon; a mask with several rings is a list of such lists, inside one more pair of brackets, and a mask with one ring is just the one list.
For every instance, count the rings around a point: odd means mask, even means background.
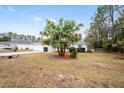
[{"label": "whole stand of tall trees and bushes along the right edge", "polygon": [[124,6],[98,6],[87,31],[88,48],[124,52]]}]

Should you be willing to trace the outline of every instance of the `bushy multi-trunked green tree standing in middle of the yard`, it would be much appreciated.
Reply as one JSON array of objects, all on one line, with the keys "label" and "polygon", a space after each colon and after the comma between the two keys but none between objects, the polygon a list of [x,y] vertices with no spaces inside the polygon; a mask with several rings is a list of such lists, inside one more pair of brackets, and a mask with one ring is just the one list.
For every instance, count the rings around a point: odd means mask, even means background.
[{"label": "bushy multi-trunked green tree standing in middle of the yard", "polygon": [[59,56],[64,56],[68,46],[80,40],[76,31],[80,30],[81,26],[83,26],[81,23],[76,24],[73,20],[62,18],[58,22],[47,20],[44,30],[40,33],[47,37],[42,38],[42,44],[57,48]]}]

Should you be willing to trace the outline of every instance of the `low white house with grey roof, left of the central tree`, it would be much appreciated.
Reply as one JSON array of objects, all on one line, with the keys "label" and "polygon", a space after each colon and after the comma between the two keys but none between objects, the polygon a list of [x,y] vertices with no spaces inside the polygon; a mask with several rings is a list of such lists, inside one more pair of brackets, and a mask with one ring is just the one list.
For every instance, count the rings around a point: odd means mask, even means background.
[{"label": "low white house with grey roof, left of the central tree", "polygon": [[26,41],[22,39],[16,39],[11,40],[9,42],[0,42],[0,50],[4,50],[6,48],[12,48],[14,49],[17,47],[18,49],[29,49],[32,51],[41,51],[44,52],[44,47],[47,48],[47,51],[45,52],[52,52],[54,48],[47,45],[41,45],[41,43],[33,43],[31,41]]}]

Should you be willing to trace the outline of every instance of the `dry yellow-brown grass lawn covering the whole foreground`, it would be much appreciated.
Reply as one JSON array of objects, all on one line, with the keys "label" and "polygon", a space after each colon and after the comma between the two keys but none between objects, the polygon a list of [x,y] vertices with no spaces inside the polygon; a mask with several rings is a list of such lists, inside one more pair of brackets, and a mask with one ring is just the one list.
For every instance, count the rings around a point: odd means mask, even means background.
[{"label": "dry yellow-brown grass lawn covering the whole foreground", "polygon": [[57,53],[0,58],[0,87],[124,87],[124,55]]}]

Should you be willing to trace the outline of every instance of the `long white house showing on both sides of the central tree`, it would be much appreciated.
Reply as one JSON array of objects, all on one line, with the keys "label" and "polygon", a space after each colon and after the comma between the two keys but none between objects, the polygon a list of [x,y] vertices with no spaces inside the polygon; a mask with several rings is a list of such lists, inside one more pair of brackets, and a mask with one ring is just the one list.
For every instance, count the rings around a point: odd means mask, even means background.
[{"label": "long white house showing on both sides of the central tree", "polygon": [[[3,35],[1,34],[1,36]],[[6,48],[14,49],[15,47],[17,47],[18,49],[29,49],[32,51],[41,51],[41,52],[56,51],[56,49],[54,49],[52,46],[42,45],[39,42],[32,42],[32,41],[23,40],[23,39],[13,39],[11,41],[0,42],[0,50],[6,49]],[[85,51],[87,51],[87,45],[83,41],[78,41],[76,43],[73,43],[70,47],[85,48]]]}]

